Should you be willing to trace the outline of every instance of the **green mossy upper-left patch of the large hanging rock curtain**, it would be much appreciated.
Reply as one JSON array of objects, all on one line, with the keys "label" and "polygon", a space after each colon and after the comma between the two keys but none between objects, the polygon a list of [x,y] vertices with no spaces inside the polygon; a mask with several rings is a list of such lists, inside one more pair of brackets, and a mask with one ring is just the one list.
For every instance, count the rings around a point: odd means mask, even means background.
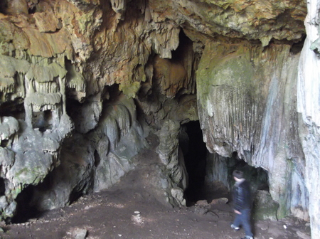
[{"label": "green mossy upper-left patch of the large hanging rock curtain", "polygon": [[202,107],[209,107],[207,104],[214,102],[211,99],[211,96],[215,97],[214,90],[250,100],[257,92],[254,77],[249,48],[241,44],[225,46],[209,43],[197,71],[198,100]]}]

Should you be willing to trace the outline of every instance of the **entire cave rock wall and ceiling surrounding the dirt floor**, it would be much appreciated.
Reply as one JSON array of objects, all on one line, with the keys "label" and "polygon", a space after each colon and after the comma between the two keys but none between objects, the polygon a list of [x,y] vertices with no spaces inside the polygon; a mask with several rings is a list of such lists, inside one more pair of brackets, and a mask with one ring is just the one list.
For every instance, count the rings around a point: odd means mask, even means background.
[{"label": "entire cave rock wall and ceiling surrounding the dirt floor", "polygon": [[267,172],[277,217],[310,218],[319,237],[318,12],[316,0],[1,1],[1,220],[19,195],[47,210],[109,188],[149,133],[166,178],[154,193],[183,206],[178,138],[199,121],[211,182],[230,183],[236,152]]}]

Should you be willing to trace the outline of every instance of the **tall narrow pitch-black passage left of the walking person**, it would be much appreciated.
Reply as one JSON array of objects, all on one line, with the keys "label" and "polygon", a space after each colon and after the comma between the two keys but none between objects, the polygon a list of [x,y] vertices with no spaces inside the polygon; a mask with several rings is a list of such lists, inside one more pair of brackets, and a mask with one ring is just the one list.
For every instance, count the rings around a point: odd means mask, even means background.
[{"label": "tall narrow pitch-black passage left of the walking person", "polygon": [[187,206],[203,199],[203,188],[206,176],[206,144],[198,121],[183,124],[188,139],[184,144],[184,160],[188,172],[188,188],[185,191]]}]

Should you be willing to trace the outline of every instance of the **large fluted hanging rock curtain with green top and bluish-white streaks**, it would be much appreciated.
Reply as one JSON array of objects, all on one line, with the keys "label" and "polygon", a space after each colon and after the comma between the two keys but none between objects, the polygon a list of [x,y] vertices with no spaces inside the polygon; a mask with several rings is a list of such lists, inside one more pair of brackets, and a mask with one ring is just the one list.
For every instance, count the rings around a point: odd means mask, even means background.
[{"label": "large fluted hanging rock curtain with green top and bluish-white streaks", "polygon": [[248,164],[266,169],[278,216],[296,211],[307,219],[309,195],[304,180],[297,180],[305,165],[297,134],[299,54],[290,48],[206,43],[197,72],[198,112],[211,153],[238,152]]}]

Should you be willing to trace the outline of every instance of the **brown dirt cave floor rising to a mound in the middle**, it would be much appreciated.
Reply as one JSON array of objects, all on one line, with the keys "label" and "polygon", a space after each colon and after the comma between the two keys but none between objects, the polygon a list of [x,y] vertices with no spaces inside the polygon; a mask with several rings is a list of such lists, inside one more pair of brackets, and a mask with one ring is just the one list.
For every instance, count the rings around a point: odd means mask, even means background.
[{"label": "brown dirt cave floor rising to a mound in the middle", "polygon": [[[152,154],[144,150],[139,156]],[[242,229],[230,228],[234,216],[230,203],[201,201],[183,208],[159,203],[141,181],[146,168],[137,165],[137,170],[110,190],[82,196],[68,207],[45,212],[26,223],[1,225],[0,238],[222,239],[245,235]],[[213,188],[213,194],[219,190]],[[219,194],[224,196],[221,191]],[[310,238],[309,225],[297,218],[253,221],[253,225],[256,239]]]}]

